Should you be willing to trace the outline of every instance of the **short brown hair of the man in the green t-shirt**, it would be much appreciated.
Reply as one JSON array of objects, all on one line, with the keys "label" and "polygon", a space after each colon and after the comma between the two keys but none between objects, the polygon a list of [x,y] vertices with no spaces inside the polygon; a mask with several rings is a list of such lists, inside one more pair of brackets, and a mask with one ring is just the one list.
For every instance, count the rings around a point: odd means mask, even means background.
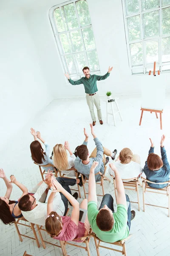
[{"label": "short brown hair of the man in the green t-shirt", "polygon": [[109,231],[113,228],[114,218],[111,212],[106,209],[101,209],[96,217],[96,224],[102,231]]}]

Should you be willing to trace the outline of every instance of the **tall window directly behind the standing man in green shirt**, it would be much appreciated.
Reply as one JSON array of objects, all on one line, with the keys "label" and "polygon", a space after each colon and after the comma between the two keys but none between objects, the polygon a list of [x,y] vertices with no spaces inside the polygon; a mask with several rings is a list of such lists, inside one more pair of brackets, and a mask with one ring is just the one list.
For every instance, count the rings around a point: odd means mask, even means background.
[{"label": "tall window directly behind the standing man in green shirt", "polygon": [[50,9],[50,20],[65,72],[80,79],[82,68],[100,73],[88,3],[68,1]]}]

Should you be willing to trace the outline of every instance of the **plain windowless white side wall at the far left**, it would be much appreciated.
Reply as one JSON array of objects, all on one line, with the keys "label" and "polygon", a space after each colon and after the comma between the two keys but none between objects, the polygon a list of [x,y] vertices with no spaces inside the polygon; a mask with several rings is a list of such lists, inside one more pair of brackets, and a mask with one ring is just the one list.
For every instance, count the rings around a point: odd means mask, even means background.
[{"label": "plain windowless white side wall at the far left", "polygon": [[0,11],[0,141],[52,100],[21,11]]}]

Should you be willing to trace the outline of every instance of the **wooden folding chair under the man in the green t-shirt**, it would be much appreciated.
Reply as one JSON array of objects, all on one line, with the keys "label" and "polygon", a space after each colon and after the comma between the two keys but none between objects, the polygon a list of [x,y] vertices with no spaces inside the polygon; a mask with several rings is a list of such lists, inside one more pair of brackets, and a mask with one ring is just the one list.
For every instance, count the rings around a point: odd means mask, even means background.
[{"label": "wooden folding chair under the man in the green t-shirt", "polygon": [[113,251],[122,253],[122,255],[125,255],[125,256],[127,255],[126,247],[125,247],[125,241],[127,241],[127,239],[129,239],[131,235],[129,235],[127,238],[122,239],[120,241],[117,241],[117,242],[114,242],[114,243],[108,243],[108,244],[114,244],[114,245],[120,246],[120,247],[122,247],[122,250],[117,250],[117,249],[113,249],[113,248],[110,248],[110,247],[106,247],[106,246],[100,245],[100,242],[103,242],[103,243],[107,243],[107,242],[104,242],[104,241],[100,240],[96,236],[95,233],[91,233],[91,236],[94,238],[94,241],[95,241],[97,256],[100,256],[100,254],[99,254],[99,247],[102,247],[102,248],[105,248],[105,249],[108,249],[108,250],[113,250]]}]

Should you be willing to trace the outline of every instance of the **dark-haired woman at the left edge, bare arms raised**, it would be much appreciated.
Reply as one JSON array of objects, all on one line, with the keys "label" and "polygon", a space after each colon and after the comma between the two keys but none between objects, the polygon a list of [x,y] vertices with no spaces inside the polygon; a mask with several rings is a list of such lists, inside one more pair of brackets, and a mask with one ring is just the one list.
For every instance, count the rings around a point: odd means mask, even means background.
[{"label": "dark-haired woman at the left edge, bare arms raised", "polygon": [[12,184],[17,185],[23,192],[21,195],[24,196],[28,193],[28,189],[16,180],[14,175],[10,176],[11,181],[9,181],[5,175],[3,169],[0,169],[0,178],[2,178],[6,183],[6,194],[5,196],[0,197],[0,219],[4,224],[13,224],[16,218],[21,218],[23,215],[21,210],[18,207],[18,201],[9,200],[11,192],[12,192]]}]

